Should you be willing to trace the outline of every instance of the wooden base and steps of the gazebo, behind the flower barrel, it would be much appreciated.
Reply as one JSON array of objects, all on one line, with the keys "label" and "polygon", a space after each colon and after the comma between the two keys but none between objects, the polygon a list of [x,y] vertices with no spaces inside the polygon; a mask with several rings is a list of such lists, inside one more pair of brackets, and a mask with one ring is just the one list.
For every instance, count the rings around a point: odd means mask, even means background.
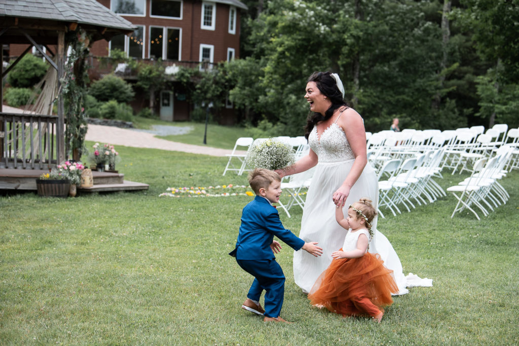
[{"label": "wooden base and steps of the gazebo, behind the flower barrel", "polygon": [[[0,169],[0,190],[36,191],[36,178],[48,172],[48,170],[2,168]],[[125,180],[125,175],[121,173],[92,171],[92,175],[94,185],[92,187],[78,187],[79,192],[135,191],[149,188],[148,184]]]}]

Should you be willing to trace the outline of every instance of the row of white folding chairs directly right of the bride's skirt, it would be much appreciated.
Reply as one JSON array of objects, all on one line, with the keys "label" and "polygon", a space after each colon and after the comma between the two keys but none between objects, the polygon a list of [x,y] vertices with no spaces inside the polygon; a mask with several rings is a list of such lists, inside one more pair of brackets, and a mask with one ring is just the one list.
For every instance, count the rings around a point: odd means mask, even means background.
[{"label": "row of white folding chairs directly right of the bride's skirt", "polygon": [[[406,159],[390,159],[386,161],[378,172],[378,213],[381,207],[387,207],[396,216],[401,214],[399,205],[411,211],[418,205],[432,203],[445,191],[433,179],[441,176],[440,164],[444,149],[428,150]],[[414,202],[413,202],[414,201]]]}]

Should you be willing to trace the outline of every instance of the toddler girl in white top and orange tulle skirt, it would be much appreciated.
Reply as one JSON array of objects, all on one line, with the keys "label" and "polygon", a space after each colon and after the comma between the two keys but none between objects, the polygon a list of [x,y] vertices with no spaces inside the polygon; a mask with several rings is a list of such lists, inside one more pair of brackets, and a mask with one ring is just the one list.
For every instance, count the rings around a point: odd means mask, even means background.
[{"label": "toddler girl in white top and orange tulle skirt", "polygon": [[326,307],[343,316],[368,315],[380,323],[383,307],[398,293],[393,271],[384,267],[378,254],[367,252],[371,222],[376,211],[366,198],[351,204],[348,218],[337,207],[335,217],[348,230],[344,245],[332,253],[334,260],[313,285],[308,299],[313,306]]}]

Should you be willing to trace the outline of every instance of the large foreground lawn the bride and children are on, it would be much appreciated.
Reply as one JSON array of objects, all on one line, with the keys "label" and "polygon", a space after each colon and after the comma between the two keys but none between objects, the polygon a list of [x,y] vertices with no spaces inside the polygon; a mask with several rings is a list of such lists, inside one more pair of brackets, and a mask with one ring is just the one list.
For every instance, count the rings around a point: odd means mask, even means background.
[{"label": "large foreground lawn the bride and children are on", "polygon": [[[119,171],[148,191],[0,197],[1,344],[519,343],[517,171],[502,181],[508,203],[481,221],[450,218],[453,196],[379,220],[404,273],[434,280],[395,297],[380,325],[310,307],[284,245],[281,316],[295,323],[281,325],[240,309],[252,277],[227,255],[251,198],[159,197],[245,176],[222,176],[226,158],[118,150]],[[281,220],[297,234],[302,212],[291,213]]]}]

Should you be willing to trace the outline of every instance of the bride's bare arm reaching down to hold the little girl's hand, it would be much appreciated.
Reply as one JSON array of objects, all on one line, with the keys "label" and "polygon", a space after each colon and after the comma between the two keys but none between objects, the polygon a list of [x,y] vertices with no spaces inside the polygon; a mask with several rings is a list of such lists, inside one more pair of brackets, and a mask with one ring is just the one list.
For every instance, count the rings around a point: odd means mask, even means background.
[{"label": "bride's bare arm reaching down to hold the little girl's hand", "polygon": [[361,116],[352,108],[345,110],[343,116],[339,118],[338,125],[344,130],[344,133],[346,133],[346,139],[350,144],[355,158],[346,179],[344,179],[343,184],[335,191],[333,196],[333,202],[339,207],[343,207],[350,194],[351,187],[357,182],[357,179],[362,174],[367,163],[366,130],[364,129]]}]

